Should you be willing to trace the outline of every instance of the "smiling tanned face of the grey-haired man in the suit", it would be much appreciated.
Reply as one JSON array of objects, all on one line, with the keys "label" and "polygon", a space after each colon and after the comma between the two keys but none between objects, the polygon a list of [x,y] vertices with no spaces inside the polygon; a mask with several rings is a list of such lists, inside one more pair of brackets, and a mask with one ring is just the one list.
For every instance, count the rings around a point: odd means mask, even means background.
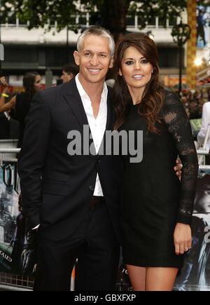
[{"label": "smiling tanned face of the grey-haired man in the suit", "polygon": [[113,67],[109,39],[103,36],[86,36],[80,52],[75,51],[73,56],[80,67],[79,79],[86,83],[104,82],[109,68]]}]

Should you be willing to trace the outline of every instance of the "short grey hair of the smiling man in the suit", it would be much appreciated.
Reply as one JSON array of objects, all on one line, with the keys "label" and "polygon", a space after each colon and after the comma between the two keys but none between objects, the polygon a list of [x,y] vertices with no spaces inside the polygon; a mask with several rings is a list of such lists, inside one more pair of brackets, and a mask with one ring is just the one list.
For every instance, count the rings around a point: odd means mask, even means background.
[{"label": "short grey hair of the smiling man in the suit", "polygon": [[115,41],[113,40],[113,36],[108,31],[108,29],[104,29],[104,27],[89,27],[88,29],[85,29],[85,31],[82,34],[80,34],[80,36],[78,37],[78,40],[77,40],[76,48],[77,48],[78,52],[80,52],[81,48],[83,47],[85,37],[88,35],[97,35],[97,36],[102,36],[102,37],[108,38],[111,56],[114,55]]}]

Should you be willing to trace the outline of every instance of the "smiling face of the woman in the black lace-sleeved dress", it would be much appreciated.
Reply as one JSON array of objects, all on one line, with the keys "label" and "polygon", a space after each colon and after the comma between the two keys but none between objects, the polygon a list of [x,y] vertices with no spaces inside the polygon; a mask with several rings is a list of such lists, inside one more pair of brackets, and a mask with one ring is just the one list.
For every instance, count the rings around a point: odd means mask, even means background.
[{"label": "smiling face of the woman in the black lace-sleeved dress", "polygon": [[125,50],[120,69],[129,89],[141,88],[144,91],[146,84],[151,80],[153,65],[142,55],[137,48],[130,46]]}]

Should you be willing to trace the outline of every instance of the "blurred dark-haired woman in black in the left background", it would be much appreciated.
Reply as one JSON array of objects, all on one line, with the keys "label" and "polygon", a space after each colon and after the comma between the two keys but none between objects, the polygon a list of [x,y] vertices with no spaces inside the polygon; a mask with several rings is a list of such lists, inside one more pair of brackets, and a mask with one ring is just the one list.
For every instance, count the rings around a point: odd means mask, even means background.
[{"label": "blurred dark-haired woman in black in the left background", "polygon": [[9,102],[0,100],[0,112],[10,111],[10,116],[20,122],[20,136],[18,147],[22,147],[22,138],[25,129],[25,117],[30,108],[30,102],[34,94],[41,90],[41,76],[37,72],[28,72],[23,77],[24,93],[15,95]]}]

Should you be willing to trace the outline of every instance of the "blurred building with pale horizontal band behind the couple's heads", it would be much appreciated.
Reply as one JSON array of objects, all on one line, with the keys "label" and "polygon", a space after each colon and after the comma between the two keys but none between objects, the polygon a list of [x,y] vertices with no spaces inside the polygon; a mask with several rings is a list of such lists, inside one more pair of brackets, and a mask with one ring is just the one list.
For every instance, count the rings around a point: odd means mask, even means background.
[{"label": "blurred building with pale horizontal band behind the couple's heads", "polygon": [[[127,32],[139,32],[140,16],[127,15]],[[82,23],[82,28],[89,27],[90,15],[84,14],[75,17],[76,23]],[[174,86],[179,78],[179,50],[173,42],[172,27],[180,22],[176,18],[166,25],[157,16],[142,32],[151,34],[158,45],[160,56],[161,78],[166,86]],[[183,13],[183,22],[187,22],[187,14]],[[166,26],[166,28],[165,28]],[[3,73],[10,75],[12,83],[21,83],[19,75],[28,70],[36,70],[44,74],[50,68],[59,76],[61,67],[66,62],[73,62],[73,50],[76,49],[76,40],[80,34],[69,31],[69,47],[66,47],[66,29],[53,34],[44,32],[44,29],[27,29],[27,25],[20,24],[19,20],[11,20],[9,24],[1,25],[1,41],[5,48],[5,60],[2,62]],[[183,80],[186,73],[186,49],[183,60]]]}]

